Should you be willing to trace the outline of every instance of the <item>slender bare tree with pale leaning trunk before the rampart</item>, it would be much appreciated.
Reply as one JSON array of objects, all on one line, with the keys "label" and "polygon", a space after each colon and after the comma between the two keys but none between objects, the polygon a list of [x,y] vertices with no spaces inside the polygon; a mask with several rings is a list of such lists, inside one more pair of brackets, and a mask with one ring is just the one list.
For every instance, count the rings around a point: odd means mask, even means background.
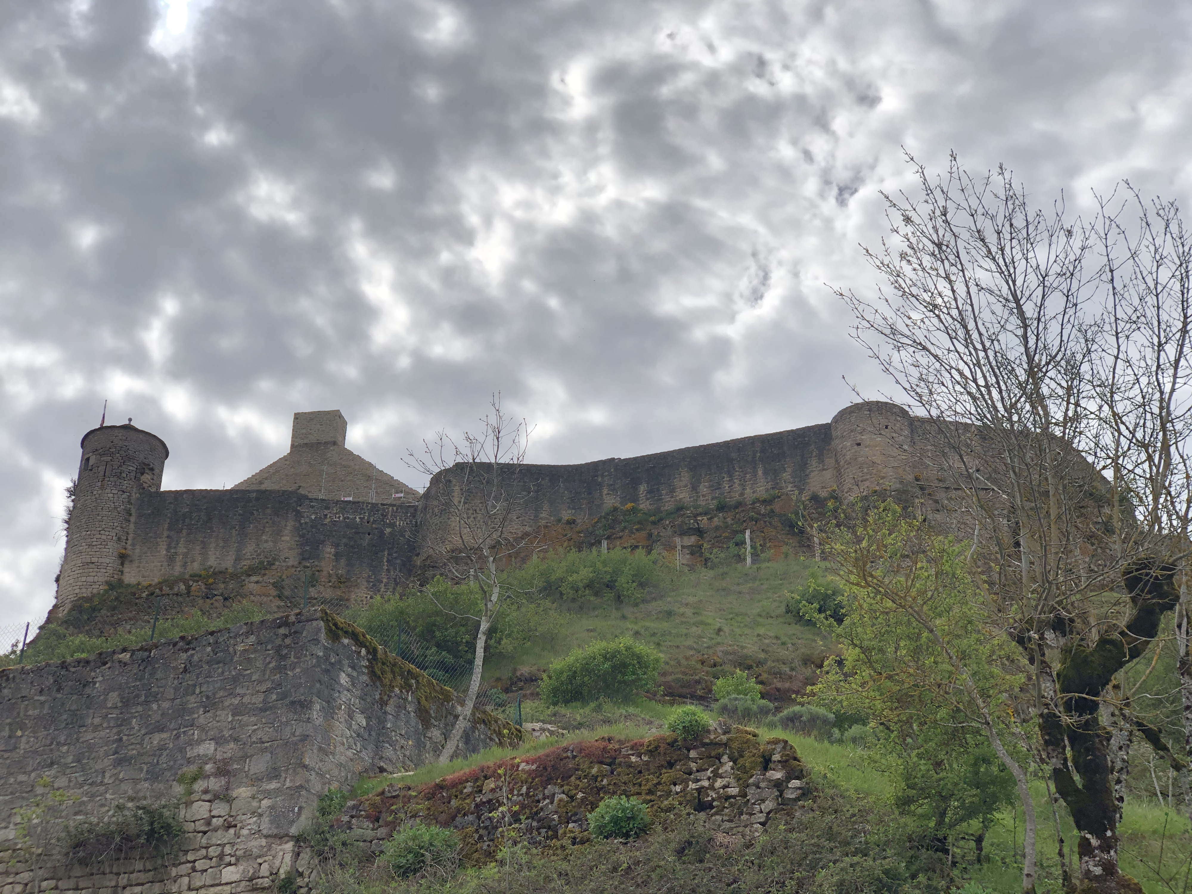
[{"label": "slender bare tree with pale leaning trunk before the rampart", "polygon": [[457,441],[440,432],[433,442],[423,442],[421,455],[410,452],[408,459],[408,465],[430,476],[420,513],[427,542],[434,545],[433,561],[451,578],[471,582],[480,597],[479,614],[467,615],[479,625],[472,678],[440,763],[454,756],[476,707],[489,631],[509,595],[509,564],[535,539],[524,533],[534,527],[529,522],[535,488],[523,476],[529,433],[524,420],[502,410],[498,393],[491,412],[480,420],[479,434],[465,432]]}]

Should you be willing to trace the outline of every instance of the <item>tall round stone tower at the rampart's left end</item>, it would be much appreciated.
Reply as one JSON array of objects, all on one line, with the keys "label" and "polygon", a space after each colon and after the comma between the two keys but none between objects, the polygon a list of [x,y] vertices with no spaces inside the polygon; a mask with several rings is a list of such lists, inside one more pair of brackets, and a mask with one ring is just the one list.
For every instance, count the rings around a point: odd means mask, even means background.
[{"label": "tall round stone tower at the rampart's left end", "polygon": [[58,575],[56,613],[120,579],[132,509],[142,491],[161,489],[169,448],[135,426],[103,426],[82,436],[82,459],[67,552]]}]

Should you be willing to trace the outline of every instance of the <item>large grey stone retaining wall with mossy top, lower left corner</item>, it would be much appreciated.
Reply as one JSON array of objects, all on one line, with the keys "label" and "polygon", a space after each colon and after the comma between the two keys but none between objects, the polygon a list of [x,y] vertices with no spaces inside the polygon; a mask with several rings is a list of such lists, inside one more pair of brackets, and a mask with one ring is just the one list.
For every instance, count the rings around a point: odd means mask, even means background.
[{"label": "large grey stone retaining wall with mossy top, lower left corner", "polygon": [[[329,787],[427,763],[457,716],[451,690],[318,610],[0,670],[0,892],[32,890],[13,812],[43,776],[79,796],[72,813],[176,805],[185,826],[164,856],[82,867],[43,855],[43,889],[234,894],[290,868]],[[478,713],[464,747],[517,735]],[[184,772],[198,777],[190,793]]]}]

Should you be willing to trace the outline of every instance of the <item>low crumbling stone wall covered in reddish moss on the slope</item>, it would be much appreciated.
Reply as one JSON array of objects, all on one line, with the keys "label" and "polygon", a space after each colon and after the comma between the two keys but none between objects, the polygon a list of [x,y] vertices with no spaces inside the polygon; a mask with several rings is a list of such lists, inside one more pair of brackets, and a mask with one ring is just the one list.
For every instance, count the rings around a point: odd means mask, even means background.
[{"label": "low crumbling stone wall covered in reddish moss on the slope", "polygon": [[[602,800],[641,800],[653,819],[694,811],[714,831],[749,840],[809,794],[799,755],[786,739],[762,740],[718,721],[699,743],[673,733],[633,743],[610,738],[572,743],[539,755],[485,764],[422,787],[392,784],[347,805],[337,826],[374,853],[393,831],[415,820],[455,830],[461,857],[493,859],[504,830],[532,848],[591,839],[586,814]],[[299,880],[317,876],[317,855],[299,852]]]}]

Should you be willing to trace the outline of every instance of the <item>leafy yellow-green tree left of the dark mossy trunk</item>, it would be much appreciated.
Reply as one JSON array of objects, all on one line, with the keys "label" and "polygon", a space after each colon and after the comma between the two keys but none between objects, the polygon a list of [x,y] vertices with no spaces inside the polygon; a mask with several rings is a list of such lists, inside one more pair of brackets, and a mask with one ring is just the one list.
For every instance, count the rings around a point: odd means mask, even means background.
[{"label": "leafy yellow-green tree left of the dark mossy trunk", "polygon": [[[937,840],[974,820],[983,839],[1014,788],[1033,812],[1014,744],[1024,663],[1012,642],[989,635],[962,547],[892,501],[824,534],[849,598],[839,623],[815,619],[844,646],[811,689],[817,702],[869,714],[884,732],[875,755],[896,799]],[[988,772],[992,760],[1000,776]]]}]

